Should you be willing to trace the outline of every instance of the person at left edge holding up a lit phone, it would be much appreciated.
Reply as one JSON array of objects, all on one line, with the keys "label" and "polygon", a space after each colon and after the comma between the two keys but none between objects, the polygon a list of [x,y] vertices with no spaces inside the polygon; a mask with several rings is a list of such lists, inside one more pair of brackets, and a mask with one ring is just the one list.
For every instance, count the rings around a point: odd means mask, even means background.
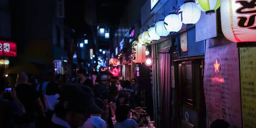
[{"label": "person at left edge holding up a lit phone", "polygon": [[[0,83],[1,82],[0,80]],[[3,95],[10,94],[14,101],[3,98]],[[0,127],[14,127],[14,117],[21,116],[26,113],[23,104],[16,97],[16,91],[13,88],[5,88],[4,84],[0,84]]]}]

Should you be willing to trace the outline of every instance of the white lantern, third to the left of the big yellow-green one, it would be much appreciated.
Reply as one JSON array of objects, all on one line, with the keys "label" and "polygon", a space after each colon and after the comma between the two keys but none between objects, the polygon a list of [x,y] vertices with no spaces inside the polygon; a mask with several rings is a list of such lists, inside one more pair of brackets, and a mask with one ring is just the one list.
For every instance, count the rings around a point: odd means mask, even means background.
[{"label": "white lantern, third to the left of the big yellow-green one", "polygon": [[160,37],[166,37],[169,35],[169,32],[164,27],[164,20],[160,19],[155,25],[156,35]]}]

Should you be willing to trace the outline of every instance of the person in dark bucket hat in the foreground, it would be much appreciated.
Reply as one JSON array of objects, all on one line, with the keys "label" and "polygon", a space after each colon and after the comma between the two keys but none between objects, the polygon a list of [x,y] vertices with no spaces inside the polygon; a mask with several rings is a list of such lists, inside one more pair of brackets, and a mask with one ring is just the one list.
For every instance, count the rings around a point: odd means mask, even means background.
[{"label": "person in dark bucket hat in the foreground", "polygon": [[58,100],[49,127],[80,127],[91,117],[90,114],[103,113],[94,103],[94,94],[88,86],[62,84]]}]

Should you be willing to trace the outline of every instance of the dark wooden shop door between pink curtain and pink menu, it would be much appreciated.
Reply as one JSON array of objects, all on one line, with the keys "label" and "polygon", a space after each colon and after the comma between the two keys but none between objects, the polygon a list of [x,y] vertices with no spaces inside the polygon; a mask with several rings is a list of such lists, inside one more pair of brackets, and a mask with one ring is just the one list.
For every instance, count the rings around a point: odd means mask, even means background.
[{"label": "dark wooden shop door between pink curtain and pink menu", "polygon": [[180,128],[206,127],[202,59],[175,61],[175,118]]}]

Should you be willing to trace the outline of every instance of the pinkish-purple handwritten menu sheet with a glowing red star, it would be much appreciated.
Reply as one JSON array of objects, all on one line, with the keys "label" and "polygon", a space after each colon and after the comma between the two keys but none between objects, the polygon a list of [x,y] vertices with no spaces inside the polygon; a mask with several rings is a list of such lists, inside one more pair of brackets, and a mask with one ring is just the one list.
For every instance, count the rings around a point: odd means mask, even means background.
[{"label": "pinkish-purple handwritten menu sheet with a glowing red star", "polygon": [[210,123],[223,119],[242,128],[239,59],[235,43],[206,49],[204,93]]}]

